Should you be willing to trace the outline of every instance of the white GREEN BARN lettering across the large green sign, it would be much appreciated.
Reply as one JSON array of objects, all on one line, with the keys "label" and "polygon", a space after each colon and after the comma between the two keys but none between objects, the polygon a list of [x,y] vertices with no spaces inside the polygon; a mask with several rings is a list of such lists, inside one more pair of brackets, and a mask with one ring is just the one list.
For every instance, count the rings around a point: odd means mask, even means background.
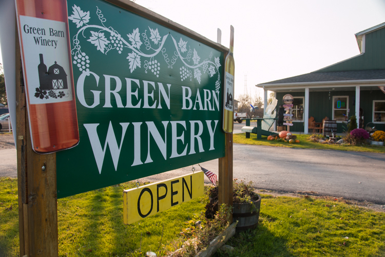
[{"label": "white GREEN BARN lettering across the large green sign", "polygon": [[[92,77],[94,79],[87,79],[87,77]],[[162,108],[164,103],[168,109],[170,109],[170,88],[171,84],[166,84],[166,87],[160,82],[146,81],[142,82],[138,79],[125,78],[125,83],[123,83],[119,77],[103,75],[105,80],[105,103],[103,107],[105,108]],[[86,83],[87,79],[87,83]],[[78,96],[79,102],[87,107],[94,108],[100,104],[100,95],[102,94],[101,90],[94,90],[98,88],[100,77],[92,71],[83,71],[79,76],[78,82],[76,83],[76,95]],[[96,82],[96,83],[95,83]],[[141,83],[143,85],[143,96],[139,95],[139,88],[141,88]],[[115,88],[111,89],[111,84],[115,84]],[[87,89],[85,88],[87,85]],[[91,87],[91,88],[90,88]],[[93,88],[92,88],[93,87]],[[122,102],[120,96],[123,88],[126,88],[127,91],[127,102],[125,106]],[[134,91],[132,88],[135,88]],[[187,86],[181,86],[182,89],[182,109],[191,109],[194,107],[194,110],[201,111],[219,111],[219,91],[203,89],[199,91],[197,88],[196,93],[193,95],[191,88]],[[85,100],[85,91],[89,90],[93,94],[93,103],[91,105],[87,104]],[[158,94],[156,93],[158,91]],[[156,95],[157,94],[157,95]],[[116,106],[112,106],[111,100],[115,99]],[[195,102],[192,102],[192,99],[195,98]],[[142,104],[143,100],[143,104]],[[158,103],[158,105],[157,105]]]}]

